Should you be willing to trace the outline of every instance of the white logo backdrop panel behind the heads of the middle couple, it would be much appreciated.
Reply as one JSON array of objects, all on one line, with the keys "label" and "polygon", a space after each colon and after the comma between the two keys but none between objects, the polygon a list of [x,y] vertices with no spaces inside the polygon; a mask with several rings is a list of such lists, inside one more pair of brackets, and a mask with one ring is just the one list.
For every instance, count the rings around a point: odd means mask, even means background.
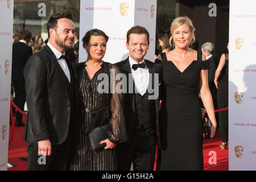
[{"label": "white logo backdrop panel behind the heads of the middle couple", "polygon": [[109,36],[104,61],[116,63],[125,60],[129,56],[125,44],[126,32],[135,25],[147,28],[150,33],[150,46],[145,58],[154,61],[156,0],[81,1],[79,62],[86,60],[82,38],[92,28],[98,28]]}]

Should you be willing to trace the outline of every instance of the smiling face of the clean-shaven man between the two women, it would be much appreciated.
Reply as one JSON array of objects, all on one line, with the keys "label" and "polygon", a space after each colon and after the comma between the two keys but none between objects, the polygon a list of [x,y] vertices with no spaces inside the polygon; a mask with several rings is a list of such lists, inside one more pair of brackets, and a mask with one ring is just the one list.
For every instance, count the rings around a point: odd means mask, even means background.
[{"label": "smiling face of the clean-shaven man between the two women", "polygon": [[148,46],[146,34],[130,34],[129,42],[126,42],[126,48],[129,49],[131,59],[138,63],[146,56]]}]

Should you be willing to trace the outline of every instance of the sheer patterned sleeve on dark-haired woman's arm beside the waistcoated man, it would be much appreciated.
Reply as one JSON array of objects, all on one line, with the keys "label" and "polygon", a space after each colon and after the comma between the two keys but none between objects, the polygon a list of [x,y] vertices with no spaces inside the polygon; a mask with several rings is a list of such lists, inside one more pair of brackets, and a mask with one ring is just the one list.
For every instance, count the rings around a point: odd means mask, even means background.
[{"label": "sheer patterned sleeve on dark-haired woman's arm beside the waistcoated man", "polygon": [[[121,70],[112,65],[110,74],[112,74],[112,98],[111,98],[111,111],[112,111],[112,134],[110,134],[109,140],[113,143],[122,143],[127,140],[125,117],[123,115],[123,100],[124,93],[119,90],[121,81],[116,79],[118,73]],[[120,92],[121,91],[121,92]]]}]

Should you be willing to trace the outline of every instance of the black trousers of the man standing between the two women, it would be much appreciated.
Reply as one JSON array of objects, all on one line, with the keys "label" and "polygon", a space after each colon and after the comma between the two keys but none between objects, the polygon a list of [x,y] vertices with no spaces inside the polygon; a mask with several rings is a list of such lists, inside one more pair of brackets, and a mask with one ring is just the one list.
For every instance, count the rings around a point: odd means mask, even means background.
[{"label": "black trousers of the man standing between the two women", "polygon": [[154,169],[155,150],[155,129],[134,129],[128,142],[117,145],[118,170],[129,171],[131,163],[133,163],[134,171],[152,171]]}]

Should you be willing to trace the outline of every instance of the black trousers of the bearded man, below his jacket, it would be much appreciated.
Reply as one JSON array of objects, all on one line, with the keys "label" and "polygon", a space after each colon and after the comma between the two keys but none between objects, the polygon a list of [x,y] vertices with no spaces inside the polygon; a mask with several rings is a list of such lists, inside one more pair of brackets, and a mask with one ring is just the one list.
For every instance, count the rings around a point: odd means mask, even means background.
[{"label": "black trousers of the bearded man, below his jacket", "polygon": [[59,144],[52,144],[50,156],[38,154],[38,142],[27,143],[28,171],[65,171],[72,147],[70,132],[67,139]]}]

